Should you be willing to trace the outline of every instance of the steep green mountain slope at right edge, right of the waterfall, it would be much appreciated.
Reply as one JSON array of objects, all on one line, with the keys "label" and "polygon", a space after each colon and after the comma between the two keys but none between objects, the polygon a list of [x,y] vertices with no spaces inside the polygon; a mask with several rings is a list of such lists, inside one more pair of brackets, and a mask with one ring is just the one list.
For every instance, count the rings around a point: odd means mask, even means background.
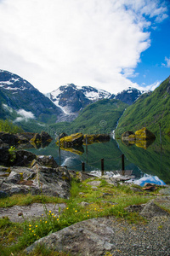
[{"label": "steep green mountain slope at right edge, right of the waterfall", "polygon": [[170,77],[160,84],[153,92],[144,94],[129,106],[119,119],[116,136],[124,131],[137,131],[146,126],[153,133],[170,132]]}]

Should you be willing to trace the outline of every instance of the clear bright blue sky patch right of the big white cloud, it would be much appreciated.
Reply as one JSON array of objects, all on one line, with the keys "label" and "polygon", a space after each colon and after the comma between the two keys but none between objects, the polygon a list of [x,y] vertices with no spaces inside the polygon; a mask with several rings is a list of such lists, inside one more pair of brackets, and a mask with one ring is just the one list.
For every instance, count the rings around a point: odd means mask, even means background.
[{"label": "clear bright blue sky patch right of the big white cloud", "polygon": [[[167,6],[168,7],[168,6]],[[167,14],[170,16],[169,7]],[[159,84],[170,76],[170,19],[163,20],[150,29],[150,47],[140,55],[141,61],[135,68],[138,76],[132,79],[141,86]]]}]

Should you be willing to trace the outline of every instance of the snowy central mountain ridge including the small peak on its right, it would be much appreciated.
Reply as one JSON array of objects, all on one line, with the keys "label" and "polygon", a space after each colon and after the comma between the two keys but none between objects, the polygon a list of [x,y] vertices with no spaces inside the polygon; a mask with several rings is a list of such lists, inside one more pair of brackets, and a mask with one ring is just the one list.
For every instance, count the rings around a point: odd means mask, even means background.
[{"label": "snowy central mountain ridge including the small peak on its right", "polygon": [[82,109],[91,103],[102,99],[116,99],[131,105],[141,94],[140,90],[131,87],[115,96],[106,90],[96,89],[92,86],[81,87],[75,84],[65,84],[46,96],[65,114],[65,118],[61,121],[72,121],[77,118]]}]

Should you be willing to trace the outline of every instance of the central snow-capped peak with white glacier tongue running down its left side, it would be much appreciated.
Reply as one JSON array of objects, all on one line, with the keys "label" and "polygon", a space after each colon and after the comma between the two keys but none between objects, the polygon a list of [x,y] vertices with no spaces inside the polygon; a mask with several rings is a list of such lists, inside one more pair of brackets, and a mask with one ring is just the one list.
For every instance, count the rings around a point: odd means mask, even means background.
[{"label": "central snow-capped peak with white glacier tongue running down its left side", "polygon": [[75,84],[66,84],[59,86],[46,96],[61,108],[67,119],[75,119],[79,111],[88,104],[97,102],[101,99],[110,98],[111,93],[105,90],[99,90],[91,86],[77,86]]}]

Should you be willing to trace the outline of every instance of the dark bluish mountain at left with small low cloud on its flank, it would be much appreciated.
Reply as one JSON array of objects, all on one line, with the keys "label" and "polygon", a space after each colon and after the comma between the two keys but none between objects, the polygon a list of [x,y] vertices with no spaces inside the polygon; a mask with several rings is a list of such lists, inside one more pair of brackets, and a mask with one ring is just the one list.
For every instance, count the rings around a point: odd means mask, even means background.
[{"label": "dark bluish mountain at left with small low cloud on its flank", "polygon": [[[20,119],[55,122],[62,111],[39,90],[20,76],[0,70],[0,114],[8,118],[15,111]],[[12,117],[12,116],[11,116]]]}]

